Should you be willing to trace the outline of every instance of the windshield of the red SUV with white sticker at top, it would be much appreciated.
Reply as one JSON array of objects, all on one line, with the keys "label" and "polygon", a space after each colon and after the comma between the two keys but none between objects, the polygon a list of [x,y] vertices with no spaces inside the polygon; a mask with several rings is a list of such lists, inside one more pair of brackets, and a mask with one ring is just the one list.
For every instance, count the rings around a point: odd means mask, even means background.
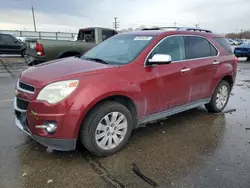
[{"label": "windshield of the red SUV with white sticker at top", "polygon": [[154,36],[116,35],[90,51],[82,59],[101,59],[108,64],[127,64],[133,61],[153,40]]}]

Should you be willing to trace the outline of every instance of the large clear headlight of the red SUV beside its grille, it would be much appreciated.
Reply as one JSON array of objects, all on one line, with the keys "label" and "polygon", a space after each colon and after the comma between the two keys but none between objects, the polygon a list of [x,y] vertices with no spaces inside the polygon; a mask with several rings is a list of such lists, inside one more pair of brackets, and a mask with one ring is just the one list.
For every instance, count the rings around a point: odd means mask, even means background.
[{"label": "large clear headlight of the red SUV beside its grille", "polygon": [[44,100],[55,104],[68,97],[78,86],[78,80],[55,82],[45,86],[37,96],[37,100]]}]

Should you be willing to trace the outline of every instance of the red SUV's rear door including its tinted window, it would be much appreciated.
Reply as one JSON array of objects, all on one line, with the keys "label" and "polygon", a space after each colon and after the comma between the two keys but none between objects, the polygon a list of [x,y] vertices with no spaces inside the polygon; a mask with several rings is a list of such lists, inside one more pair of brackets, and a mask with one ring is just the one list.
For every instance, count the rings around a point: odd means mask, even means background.
[{"label": "red SUV's rear door including its tinted window", "polygon": [[191,68],[189,102],[211,97],[211,86],[219,65],[217,49],[204,37],[186,36]]}]

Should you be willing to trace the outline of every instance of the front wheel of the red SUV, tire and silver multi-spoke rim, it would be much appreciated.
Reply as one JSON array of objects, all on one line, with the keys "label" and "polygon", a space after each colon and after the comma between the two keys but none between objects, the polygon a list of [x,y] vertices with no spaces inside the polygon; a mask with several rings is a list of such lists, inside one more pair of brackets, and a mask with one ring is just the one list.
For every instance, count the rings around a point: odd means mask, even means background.
[{"label": "front wheel of the red SUV, tire and silver multi-spoke rim", "polygon": [[88,114],[80,130],[80,139],[91,153],[107,156],[125,146],[131,131],[130,111],[120,103],[107,101]]}]

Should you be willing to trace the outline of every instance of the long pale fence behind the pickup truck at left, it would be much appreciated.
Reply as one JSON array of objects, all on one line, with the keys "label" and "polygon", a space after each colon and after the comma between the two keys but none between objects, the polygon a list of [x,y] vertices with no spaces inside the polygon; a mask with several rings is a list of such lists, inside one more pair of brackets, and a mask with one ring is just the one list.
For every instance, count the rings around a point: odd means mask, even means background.
[{"label": "long pale fence behind the pickup truck at left", "polygon": [[35,32],[35,31],[19,31],[19,30],[0,30],[0,33],[11,34],[15,37],[23,37],[29,39],[51,39],[51,40],[75,40],[77,33],[64,32]]}]

